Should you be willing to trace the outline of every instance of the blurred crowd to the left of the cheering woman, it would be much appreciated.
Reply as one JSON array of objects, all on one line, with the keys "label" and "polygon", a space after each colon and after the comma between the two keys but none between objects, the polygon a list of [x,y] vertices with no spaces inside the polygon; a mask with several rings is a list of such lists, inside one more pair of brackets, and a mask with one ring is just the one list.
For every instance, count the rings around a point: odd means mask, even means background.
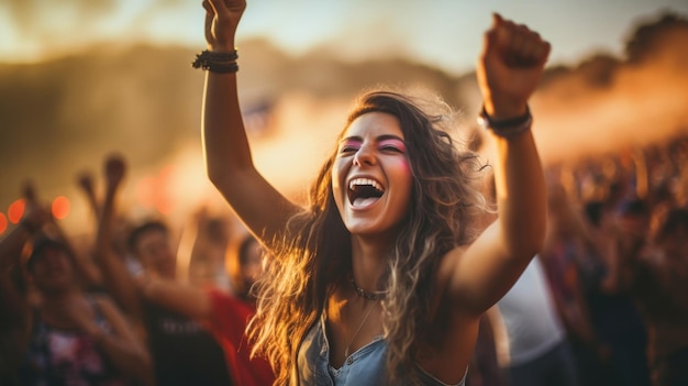
[{"label": "blurred crowd to the left of the cheering woman", "polygon": [[102,184],[76,178],[93,214],[87,243],[53,218],[40,184],[23,187],[22,219],[0,242],[0,384],[270,385],[244,335],[262,246],[201,207],[180,247],[180,224],[119,210],[125,159],[102,166]]}]

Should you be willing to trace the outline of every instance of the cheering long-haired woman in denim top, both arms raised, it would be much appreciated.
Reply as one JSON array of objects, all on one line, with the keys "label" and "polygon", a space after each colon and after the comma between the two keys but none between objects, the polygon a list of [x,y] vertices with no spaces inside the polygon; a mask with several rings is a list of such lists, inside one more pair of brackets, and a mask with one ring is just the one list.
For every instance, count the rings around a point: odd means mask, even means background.
[{"label": "cheering long-haired woman in denim top, both arms raised", "polygon": [[[269,250],[249,326],[277,384],[463,384],[480,316],[517,280],[545,232],[545,184],[528,99],[550,44],[495,15],[478,80],[497,156],[498,219],[473,236],[484,201],[474,154],[446,114],[373,91],[351,112],[308,207],[253,164],[236,89],[242,0],[207,0],[203,143],[210,179]],[[429,111],[429,110],[428,110]]]}]

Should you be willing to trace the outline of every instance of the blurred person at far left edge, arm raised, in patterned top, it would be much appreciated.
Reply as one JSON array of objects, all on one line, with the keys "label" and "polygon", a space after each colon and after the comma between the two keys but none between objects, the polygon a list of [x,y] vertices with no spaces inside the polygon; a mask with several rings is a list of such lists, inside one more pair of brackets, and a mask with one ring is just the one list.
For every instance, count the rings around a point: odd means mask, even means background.
[{"label": "blurred person at far left edge, arm raised, in patterned top", "polygon": [[[23,264],[21,276],[0,277],[11,307],[4,315],[20,315],[23,335],[14,338],[22,359],[18,384],[30,385],[145,385],[151,359],[115,304],[104,294],[82,290],[78,260],[57,223],[27,195],[20,227],[0,246],[2,265]],[[22,252],[23,251],[23,252]],[[10,283],[8,280],[11,280]],[[16,332],[16,330],[14,330]]]}]

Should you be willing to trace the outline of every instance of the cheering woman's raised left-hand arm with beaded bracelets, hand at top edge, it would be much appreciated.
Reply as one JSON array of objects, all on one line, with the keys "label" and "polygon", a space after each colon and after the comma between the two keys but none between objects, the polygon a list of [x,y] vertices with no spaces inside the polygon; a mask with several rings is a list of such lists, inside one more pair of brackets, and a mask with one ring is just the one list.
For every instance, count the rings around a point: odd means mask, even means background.
[{"label": "cheering woman's raised left-hand arm with beaded bracelets, hand at top edge", "polygon": [[[246,227],[264,243],[281,235],[287,220],[299,210],[256,170],[251,155],[232,70],[234,37],[246,7],[243,0],[203,1],[204,53],[208,69],[203,98],[203,155],[210,180]],[[222,70],[213,68],[221,58]],[[228,59],[229,58],[229,59]],[[228,70],[229,68],[229,70]]]}]

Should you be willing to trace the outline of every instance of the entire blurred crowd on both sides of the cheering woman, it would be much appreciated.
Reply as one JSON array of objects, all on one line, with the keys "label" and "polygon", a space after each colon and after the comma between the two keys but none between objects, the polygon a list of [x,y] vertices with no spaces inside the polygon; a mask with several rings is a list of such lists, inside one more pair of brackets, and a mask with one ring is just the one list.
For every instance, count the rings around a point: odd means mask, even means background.
[{"label": "entire blurred crowd on both sides of the cheering woman", "polygon": [[[687,159],[680,136],[547,166],[545,246],[485,316],[467,385],[548,372],[572,385],[688,385]],[[106,157],[103,192],[78,177],[93,214],[86,244],[51,216],[40,181],[23,187],[22,220],[0,241],[0,384],[271,384],[244,337],[265,251],[231,214],[199,208],[180,256],[180,224],[119,210],[126,170]]]}]

